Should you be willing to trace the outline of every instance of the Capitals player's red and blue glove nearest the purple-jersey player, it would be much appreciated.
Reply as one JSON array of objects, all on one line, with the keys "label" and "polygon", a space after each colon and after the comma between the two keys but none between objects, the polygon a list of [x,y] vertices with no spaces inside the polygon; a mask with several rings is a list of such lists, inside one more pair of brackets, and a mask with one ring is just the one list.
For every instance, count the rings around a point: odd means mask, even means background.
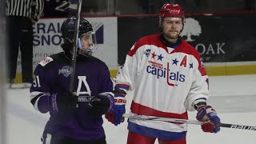
[{"label": "Capitals player's red and blue glove nearest the purple-jersey player", "polygon": [[121,122],[124,122],[124,118],[122,114],[126,113],[126,92],[115,88],[114,90],[114,106],[109,113],[105,115],[105,118],[114,124],[114,126],[118,126]]}]

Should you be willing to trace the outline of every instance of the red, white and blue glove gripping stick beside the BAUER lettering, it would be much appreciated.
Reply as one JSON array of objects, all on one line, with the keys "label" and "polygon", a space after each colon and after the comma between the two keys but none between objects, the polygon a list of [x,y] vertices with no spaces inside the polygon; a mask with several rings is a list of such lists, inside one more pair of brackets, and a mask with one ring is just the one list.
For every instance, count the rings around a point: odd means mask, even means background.
[{"label": "red, white and blue glove gripping stick beside the BAUER lettering", "polygon": [[202,124],[202,130],[209,133],[218,133],[220,125],[222,124],[216,111],[211,106],[203,106],[198,110],[198,121],[204,122]]}]

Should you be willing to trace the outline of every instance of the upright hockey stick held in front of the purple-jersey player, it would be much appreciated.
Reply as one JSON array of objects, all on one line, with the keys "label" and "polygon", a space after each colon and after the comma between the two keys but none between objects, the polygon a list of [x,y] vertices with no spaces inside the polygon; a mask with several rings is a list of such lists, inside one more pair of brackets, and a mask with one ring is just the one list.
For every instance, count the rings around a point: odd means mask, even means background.
[{"label": "upright hockey stick held in front of the purple-jersey player", "polygon": [[78,34],[79,34],[79,24],[80,24],[80,13],[81,13],[81,7],[82,7],[82,0],[78,1],[78,8],[77,8],[77,17],[75,22],[75,30],[74,30],[74,46],[73,46],[73,53],[72,53],[72,59],[71,59],[71,67],[70,67],[70,92],[73,91],[73,85],[74,85],[74,70],[75,70],[75,64],[77,62],[77,51],[78,51]]}]

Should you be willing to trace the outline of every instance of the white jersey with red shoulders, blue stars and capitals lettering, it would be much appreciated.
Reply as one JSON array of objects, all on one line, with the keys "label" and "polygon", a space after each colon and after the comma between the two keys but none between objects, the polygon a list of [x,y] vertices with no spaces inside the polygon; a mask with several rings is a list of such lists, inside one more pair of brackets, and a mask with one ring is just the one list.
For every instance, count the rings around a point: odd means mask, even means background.
[{"label": "white jersey with red shoulders, blue stars and capitals lettering", "polygon": [[[206,70],[193,46],[182,40],[175,48],[167,47],[160,35],[135,42],[114,80],[119,87],[134,90],[131,113],[187,119],[187,110],[194,110],[194,100],[208,98]],[[187,126],[130,119],[128,129],[169,139],[184,136]]]}]

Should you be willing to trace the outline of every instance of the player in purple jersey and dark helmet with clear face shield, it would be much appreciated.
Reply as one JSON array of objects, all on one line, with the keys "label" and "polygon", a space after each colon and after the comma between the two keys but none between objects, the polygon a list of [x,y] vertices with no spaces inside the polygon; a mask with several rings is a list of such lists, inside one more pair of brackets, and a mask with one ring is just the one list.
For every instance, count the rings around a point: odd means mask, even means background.
[{"label": "player in purple jersey and dark helmet with clear face shield", "polygon": [[69,92],[71,51],[75,18],[62,23],[64,52],[43,59],[34,70],[30,102],[35,110],[50,113],[42,134],[43,144],[105,144],[102,114],[114,104],[113,83],[104,62],[91,54],[96,49],[95,32],[80,19],[74,89]]}]

